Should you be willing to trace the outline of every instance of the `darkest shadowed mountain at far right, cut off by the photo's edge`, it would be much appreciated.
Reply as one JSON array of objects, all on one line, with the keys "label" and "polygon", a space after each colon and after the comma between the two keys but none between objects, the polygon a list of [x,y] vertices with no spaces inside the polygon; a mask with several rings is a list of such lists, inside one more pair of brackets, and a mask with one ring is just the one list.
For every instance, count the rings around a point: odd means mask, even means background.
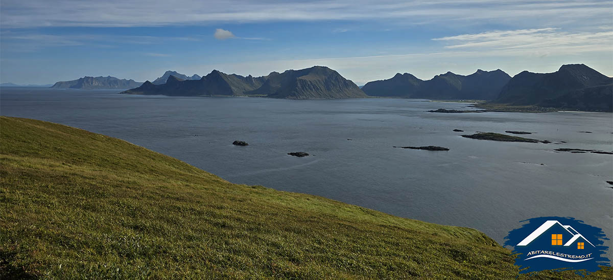
[{"label": "darkest shadowed mountain at far right, cut off by the photo's edge", "polygon": [[584,64],[562,65],[557,72],[514,76],[490,104],[535,105],[588,111],[612,111],[613,78]]}]

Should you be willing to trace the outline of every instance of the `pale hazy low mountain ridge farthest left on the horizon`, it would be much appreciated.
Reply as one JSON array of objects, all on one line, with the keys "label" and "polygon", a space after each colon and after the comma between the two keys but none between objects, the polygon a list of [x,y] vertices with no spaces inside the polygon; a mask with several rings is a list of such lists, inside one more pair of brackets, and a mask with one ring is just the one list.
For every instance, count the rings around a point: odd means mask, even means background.
[{"label": "pale hazy low mountain ridge farthest left on the horizon", "polygon": [[130,89],[140,86],[142,83],[133,79],[118,79],[112,76],[98,76],[74,79],[72,81],[59,81],[51,88],[54,89]]}]

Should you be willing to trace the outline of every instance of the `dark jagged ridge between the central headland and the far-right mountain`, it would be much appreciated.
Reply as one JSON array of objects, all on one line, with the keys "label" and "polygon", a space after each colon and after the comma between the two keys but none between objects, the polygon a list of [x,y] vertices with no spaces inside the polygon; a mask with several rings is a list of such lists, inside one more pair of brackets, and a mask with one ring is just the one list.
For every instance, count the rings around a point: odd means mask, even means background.
[{"label": "dark jagged ridge between the central headland and the far-right mountain", "polygon": [[368,82],[362,90],[377,97],[492,100],[510,79],[500,69],[490,72],[479,69],[468,76],[447,72],[427,81],[409,73],[397,73],[390,79]]}]

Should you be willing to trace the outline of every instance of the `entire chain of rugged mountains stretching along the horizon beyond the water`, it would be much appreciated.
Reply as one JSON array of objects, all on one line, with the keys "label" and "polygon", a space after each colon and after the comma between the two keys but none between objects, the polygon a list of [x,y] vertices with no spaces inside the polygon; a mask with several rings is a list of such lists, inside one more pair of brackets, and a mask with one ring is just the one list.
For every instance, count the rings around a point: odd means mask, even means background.
[{"label": "entire chain of rugged mountains stretching along the horizon beyond the water", "polygon": [[[15,86],[4,83],[1,86]],[[55,83],[58,89],[129,89],[123,94],[259,96],[287,99],[400,97],[438,100],[487,100],[480,106],[503,109],[535,106],[537,111],[568,109],[613,111],[613,78],[584,64],[562,65],[554,73],[521,72],[511,78],[502,70],[463,76],[452,72],[429,80],[409,73],[371,81],[357,87],[328,67],[272,72],[266,76],[240,76],[213,70],[206,76],[166,71],[153,83],[132,79],[85,76]],[[488,107],[489,106],[489,107]],[[541,110],[543,109],[543,110]]]}]

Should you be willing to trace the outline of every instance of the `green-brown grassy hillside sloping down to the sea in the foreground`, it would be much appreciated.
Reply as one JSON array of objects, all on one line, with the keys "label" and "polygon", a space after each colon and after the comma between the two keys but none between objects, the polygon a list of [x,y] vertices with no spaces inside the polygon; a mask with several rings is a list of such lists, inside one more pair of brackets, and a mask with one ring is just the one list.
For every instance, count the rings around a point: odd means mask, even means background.
[{"label": "green-brown grassy hillside sloping down to the sea in the foreground", "polygon": [[516,279],[478,230],[235,185],[55,123],[1,117],[0,134],[0,279]]}]

